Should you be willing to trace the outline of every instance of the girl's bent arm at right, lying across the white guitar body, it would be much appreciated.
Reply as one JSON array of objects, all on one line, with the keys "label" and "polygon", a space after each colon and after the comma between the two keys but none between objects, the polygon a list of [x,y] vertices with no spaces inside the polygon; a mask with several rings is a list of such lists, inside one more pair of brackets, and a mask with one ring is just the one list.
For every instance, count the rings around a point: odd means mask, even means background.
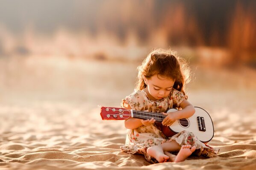
[{"label": "girl's bent arm at right, lying across the white guitar body", "polygon": [[162,121],[162,125],[171,126],[177,119],[183,119],[191,117],[195,113],[195,108],[191,105],[188,100],[183,100],[179,105],[182,110],[171,112],[171,113],[163,113],[166,115],[165,119]]}]

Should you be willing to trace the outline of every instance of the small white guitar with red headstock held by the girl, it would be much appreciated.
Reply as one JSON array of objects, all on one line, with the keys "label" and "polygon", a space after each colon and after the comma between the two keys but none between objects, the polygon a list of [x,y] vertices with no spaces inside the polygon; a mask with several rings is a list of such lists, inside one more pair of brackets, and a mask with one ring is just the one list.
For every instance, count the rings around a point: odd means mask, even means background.
[{"label": "small white guitar with red headstock held by the girl", "polygon": [[[196,111],[193,116],[185,119],[177,119],[171,126],[162,125],[161,122],[166,117],[162,113],[101,106],[100,115],[103,120],[125,120],[132,117],[144,120],[154,118],[156,120],[156,124],[161,127],[162,132],[166,137],[171,137],[182,130],[186,130],[194,133],[194,135],[197,136],[201,142],[206,144],[214,135],[212,118],[204,109],[199,107],[194,108]],[[177,111],[177,109],[171,108],[167,111],[167,113],[174,111]]]}]

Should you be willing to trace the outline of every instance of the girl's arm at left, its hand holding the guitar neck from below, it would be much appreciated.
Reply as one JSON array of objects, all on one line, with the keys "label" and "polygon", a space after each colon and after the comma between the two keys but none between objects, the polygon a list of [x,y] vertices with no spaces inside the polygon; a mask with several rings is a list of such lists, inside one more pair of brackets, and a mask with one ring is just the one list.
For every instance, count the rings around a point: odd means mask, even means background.
[{"label": "girl's arm at left, its hand holding the guitar neck from below", "polygon": [[[130,107],[130,105],[128,105],[127,109],[132,109]],[[142,125],[150,125],[152,123],[154,123],[156,120],[155,119],[148,119],[148,120],[143,120],[143,119],[137,119],[137,118],[129,118],[129,119],[126,119],[124,121],[124,125],[127,129],[137,129],[138,127],[142,126]]]}]

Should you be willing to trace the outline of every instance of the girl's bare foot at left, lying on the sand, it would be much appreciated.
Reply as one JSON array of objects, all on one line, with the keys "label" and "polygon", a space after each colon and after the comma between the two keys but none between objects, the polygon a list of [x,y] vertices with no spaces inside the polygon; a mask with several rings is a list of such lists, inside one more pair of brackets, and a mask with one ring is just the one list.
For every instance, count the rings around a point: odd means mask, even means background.
[{"label": "girl's bare foot at left, lying on the sand", "polygon": [[147,148],[147,153],[159,162],[166,162],[169,160],[169,156],[165,155],[160,145]]}]

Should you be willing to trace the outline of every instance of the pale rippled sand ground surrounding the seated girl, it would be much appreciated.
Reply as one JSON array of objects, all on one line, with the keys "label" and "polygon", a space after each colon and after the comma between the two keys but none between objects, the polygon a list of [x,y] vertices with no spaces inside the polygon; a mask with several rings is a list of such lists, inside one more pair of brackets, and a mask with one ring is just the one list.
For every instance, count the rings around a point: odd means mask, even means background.
[{"label": "pale rippled sand ground surrounding the seated girl", "polygon": [[132,92],[137,63],[17,60],[0,60],[0,170],[256,168],[254,70],[194,69],[188,99],[212,116],[215,136],[209,145],[220,153],[150,164],[119,149],[125,143],[124,122],[101,120],[98,107],[118,107]]}]

